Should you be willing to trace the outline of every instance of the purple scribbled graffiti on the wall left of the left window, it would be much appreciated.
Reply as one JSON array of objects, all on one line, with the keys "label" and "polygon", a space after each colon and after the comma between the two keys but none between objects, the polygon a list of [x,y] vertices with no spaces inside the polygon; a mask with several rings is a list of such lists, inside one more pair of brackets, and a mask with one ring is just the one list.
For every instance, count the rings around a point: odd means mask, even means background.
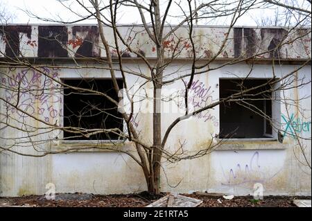
[{"label": "purple scribbled graffiti on the wall left of the left window", "polygon": [[47,123],[55,123],[62,116],[62,108],[55,107],[61,103],[60,85],[54,79],[59,77],[59,69],[43,67],[34,69],[10,70],[1,76],[2,96],[8,117],[18,116],[19,119],[36,116]]}]

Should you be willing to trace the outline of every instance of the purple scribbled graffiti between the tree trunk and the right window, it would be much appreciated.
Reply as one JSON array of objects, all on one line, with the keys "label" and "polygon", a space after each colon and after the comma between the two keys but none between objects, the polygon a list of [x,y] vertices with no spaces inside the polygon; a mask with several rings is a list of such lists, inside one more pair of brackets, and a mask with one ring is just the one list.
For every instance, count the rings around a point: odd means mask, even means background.
[{"label": "purple scribbled graffiti between the tree trunk and the right window", "polygon": [[[180,90],[179,93],[180,93],[180,96],[185,96],[185,89]],[[211,89],[210,86],[206,87],[204,82],[201,82],[200,80],[194,80],[192,82],[191,88],[189,89],[188,98],[187,98],[189,110],[194,111],[196,109],[200,109],[212,103],[213,93],[214,91]],[[178,103],[178,106],[180,108],[185,108],[184,100],[181,100]],[[215,126],[219,125],[218,119],[216,118],[216,116],[211,115],[209,110],[200,112],[196,114],[195,117],[198,119],[202,119],[205,122],[211,121]]]}]

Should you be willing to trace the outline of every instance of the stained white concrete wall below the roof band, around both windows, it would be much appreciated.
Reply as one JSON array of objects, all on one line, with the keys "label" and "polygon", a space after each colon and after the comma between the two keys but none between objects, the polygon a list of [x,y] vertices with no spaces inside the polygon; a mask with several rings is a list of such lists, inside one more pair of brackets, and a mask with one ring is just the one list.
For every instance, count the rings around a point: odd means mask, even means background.
[{"label": "stained white concrete wall below the roof band, around both windows", "polygon": [[[125,64],[129,69],[137,69],[141,66],[142,71],[148,74],[141,64]],[[214,64],[218,65],[218,64]],[[173,76],[185,73],[191,67],[190,63],[176,62],[171,64],[166,71],[175,73]],[[283,65],[276,67],[277,77],[295,69],[295,65]],[[209,102],[218,99],[219,78],[244,77],[250,70],[247,64],[235,64],[226,66],[216,71],[204,73],[196,77],[196,80],[209,89]],[[8,73],[7,69],[1,69]],[[21,69],[11,70],[10,76],[20,73]],[[51,71],[53,73],[53,71]],[[56,72],[55,72],[56,73]],[[96,77],[109,78],[107,71],[99,69],[60,69],[55,78],[80,78]],[[29,79],[33,73],[29,73]],[[311,66],[304,67],[298,71],[298,78],[305,77],[305,81],[311,80]],[[272,66],[268,64],[255,64],[250,78],[271,78]],[[1,79],[6,78],[3,74]],[[134,85],[137,77],[127,75],[128,84]],[[8,78],[7,78],[8,79]],[[2,81],[3,82],[3,81]],[[41,84],[38,82],[37,84]],[[150,84],[145,86],[151,87]],[[164,87],[164,89],[182,89],[182,82]],[[311,83],[299,89],[285,91],[286,98],[302,98],[304,95],[311,96]],[[6,89],[1,89],[1,97],[6,96]],[[200,101],[194,95],[195,100]],[[51,113],[51,108],[46,107],[44,111],[37,113],[38,118],[43,121],[54,123],[56,119],[62,122],[62,99],[57,102],[58,96],[52,96],[47,103],[53,104],[53,109],[60,114]],[[33,107],[45,105],[41,100],[33,102]],[[150,104],[149,104],[150,105]],[[296,106],[297,105],[297,106]],[[298,106],[299,105],[299,106]],[[6,113],[5,105],[1,100],[1,117]],[[302,136],[311,138],[311,98],[300,100],[290,109],[289,114],[297,114],[297,108],[303,110],[304,117],[297,116],[301,121],[310,122],[309,131],[301,132]],[[3,115],[4,114],[4,115]],[[196,152],[205,148],[211,141],[211,137],[219,132],[219,109],[218,107],[209,110],[206,115],[194,116],[187,121],[180,122],[171,132],[166,148],[175,150],[179,143],[186,141],[184,150]],[[210,114],[210,115],[209,115]],[[286,107],[281,105],[281,114],[286,115]],[[11,113],[12,119],[17,117],[28,123],[34,123],[28,118]],[[166,127],[181,114],[167,113],[162,116],[162,132]],[[49,117],[49,119],[46,119]],[[281,117],[281,116],[280,116]],[[10,120],[13,122],[13,120]],[[207,121],[205,121],[207,119]],[[3,122],[3,121],[1,121]],[[140,114],[138,116],[138,130],[141,130],[141,137],[146,143],[151,142],[153,125],[151,114]],[[283,118],[281,117],[281,123]],[[20,125],[20,123],[16,123]],[[286,124],[282,125],[285,129]],[[18,133],[18,134],[17,134]],[[5,127],[1,123],[1,138],[23,137],[26,134],[17,130]],[[38,136],[46,139],[46,143],[38,143],[38,148],[45,150],[68,148],[70,144],[62,142],[49,142],[49,138],[55,133]],[[27,138],[25,138],[27,140]],[[1,139],[1,146],[10,146],[14,141]],[[177,193],[190,193],[193,191],[209,191],[217,193],[234,193],[245,195],[252,193],[254,183],[261,183],[265,190],[264,194],[291,194],[311,195],[311,170],[302,166],[296,159],[300,151],[296,147],[296,141],[292,136],[286,136],[283,143],[278,141],[230,141],[214,150],[205,157],[193,160],[184,160],[178,163],[167,163],[164,161],[162,173],[162,191],[173,191]],[[311,143],[304,141],[311,163]],[[85,145],[85,144],[83,144]],[[131,143],[125,144],[132,148]],[[14,147],[13,147],[14,148]],[[21,150],[21,148],[19,148]],[[34,150],[24,150],[33,152]],[[295,156],[296,153],[297,155]],[[166,175],[165,175],[166,173]],[[166,177],[168,179],[166,179]],[[133,193],[146,190],[144,175],[132,159],[125,154],[118,152],[76,152],[68,154],[48,155],[44,158],[21,157],[17,154],[3,152],[0,154],[0,195],[15,196],[28,194],[43,194],[45,185],[48,182],[55,184],[59,193]],[[179,184],[180,183],[180,184]],[[176,184],[179,184],[176,187]]]}]

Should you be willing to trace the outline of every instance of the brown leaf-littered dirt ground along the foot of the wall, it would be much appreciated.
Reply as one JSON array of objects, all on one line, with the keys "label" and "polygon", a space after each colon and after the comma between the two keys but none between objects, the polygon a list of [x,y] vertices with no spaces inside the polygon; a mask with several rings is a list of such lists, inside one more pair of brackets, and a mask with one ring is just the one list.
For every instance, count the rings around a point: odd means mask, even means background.
[{"label": "brown leaf-littered dirt ground along the foot of the wall", "polygon": [[[60,194],[55,200],[46,200],[42,195],[29,195],[23,197],[0,197],[1,206],[71,206],[71,207],[141,207],[147,206],[158,197],[150,197],[146,193],[130,195],[92,195],[92,194]],[[263,200],[254,200],[252,196],[234,197],[225,200],[222,195],[209,195],[207,193],[184,194],[202,200],[200,207],[233,207],[233,206],[270,206],[293,207],[293,200],[311,200],[311,197],[291,196],[265,196]]]}]

